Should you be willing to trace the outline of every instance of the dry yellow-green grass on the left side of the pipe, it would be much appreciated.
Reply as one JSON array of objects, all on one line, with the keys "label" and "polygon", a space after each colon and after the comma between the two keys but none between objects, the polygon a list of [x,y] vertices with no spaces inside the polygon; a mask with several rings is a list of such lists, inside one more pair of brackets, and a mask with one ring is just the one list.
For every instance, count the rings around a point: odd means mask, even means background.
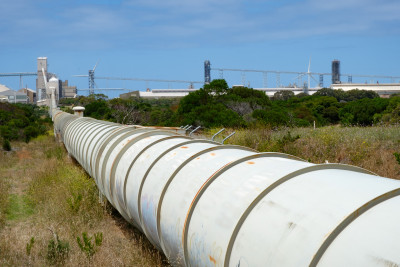
[{"label": "dry yellow-green grass on the left side of the pipe", "polygon": [[[0,266],[165,266],[52,136],[0,151]],[[81,245],[77,241],[80,239]]]}]

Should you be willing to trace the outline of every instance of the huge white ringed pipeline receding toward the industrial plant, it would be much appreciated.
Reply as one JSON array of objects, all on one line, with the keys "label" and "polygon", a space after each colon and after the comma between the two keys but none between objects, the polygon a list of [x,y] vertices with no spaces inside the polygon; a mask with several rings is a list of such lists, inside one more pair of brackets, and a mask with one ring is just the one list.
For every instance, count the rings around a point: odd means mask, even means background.
[{"label": "huge white ringed pipeline receding toward the industrial plant", "polygon": [[400,181],[51,104],[68,153],[174,266],[400,265]]}]

